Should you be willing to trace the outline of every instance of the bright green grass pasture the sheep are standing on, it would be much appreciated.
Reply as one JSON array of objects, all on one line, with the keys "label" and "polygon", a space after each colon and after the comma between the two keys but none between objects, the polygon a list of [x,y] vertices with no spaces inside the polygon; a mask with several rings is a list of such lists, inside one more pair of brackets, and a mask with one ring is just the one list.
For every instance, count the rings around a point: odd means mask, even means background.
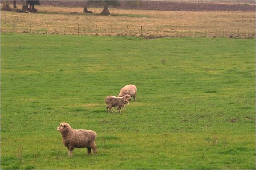
[{"label": "bright green grass pasture the sheep are standing on", "polygon": [[[68,157],[60,122],[98,154]],[[255,169],[255,39],[2,33],[1,169]]]}]

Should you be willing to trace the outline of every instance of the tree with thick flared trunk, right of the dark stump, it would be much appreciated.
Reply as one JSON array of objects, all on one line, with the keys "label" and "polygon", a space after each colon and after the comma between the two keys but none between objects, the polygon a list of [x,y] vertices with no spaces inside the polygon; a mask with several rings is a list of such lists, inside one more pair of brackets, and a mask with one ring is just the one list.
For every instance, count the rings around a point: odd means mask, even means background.
[{"label": "tree with thick flared trunk, right of the dark stump", "polygon": [[120,2],[118,0],[99,0],[99,1],[92,0],[92,1],[88,1],[88,3],[96,6],[101,6],[101,5],[104,6],[103,11],[100,13],[103,15],[110,15],[110,12],[108,10],[109,6],[113,6],[113,7],[120,6]]}]

